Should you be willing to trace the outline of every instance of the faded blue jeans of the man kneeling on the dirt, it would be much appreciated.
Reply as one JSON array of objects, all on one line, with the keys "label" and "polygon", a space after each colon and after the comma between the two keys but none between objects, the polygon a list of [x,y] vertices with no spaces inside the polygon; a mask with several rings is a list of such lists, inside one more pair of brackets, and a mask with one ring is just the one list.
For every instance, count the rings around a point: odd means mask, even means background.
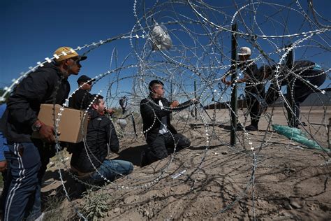
[{"label": "faded blue jeans of the man kneeling on the dirt", "polygon": [[[119,159],[105,159],[101,166],[98,168],[98,172],[95,171],[91,175],[91,181],[94,183],[104,183],[105,179],[100,176],[104,176],[108,180],[115,180],[123,175],[127,175],[133,171],[133,164],[131,162]],[[99,174],[100,173],[100,174]]]}]

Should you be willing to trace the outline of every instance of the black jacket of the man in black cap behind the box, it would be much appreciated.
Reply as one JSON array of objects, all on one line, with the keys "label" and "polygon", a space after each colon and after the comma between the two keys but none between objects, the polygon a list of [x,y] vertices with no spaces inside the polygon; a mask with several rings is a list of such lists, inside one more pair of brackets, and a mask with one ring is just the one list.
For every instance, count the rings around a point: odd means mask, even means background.
[{"label": "black jacket of the man in black cap behind the box", "polygon": [[87,90],[80,88],[71,98],[69,98],[69,107],[77,110],[87,110],[94,97]]}]

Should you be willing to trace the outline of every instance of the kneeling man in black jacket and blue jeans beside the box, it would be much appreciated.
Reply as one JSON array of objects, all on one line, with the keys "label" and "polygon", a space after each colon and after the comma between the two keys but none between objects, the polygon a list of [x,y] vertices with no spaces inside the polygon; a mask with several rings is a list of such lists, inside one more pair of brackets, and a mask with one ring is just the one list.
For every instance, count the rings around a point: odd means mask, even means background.
[{"label": "kneeling man in black jacket and blue jeans beside the box", "polygon": [[119,151],[119,140],[114,125],[104,115],[104,110],[105,102],[103,97],[98,95],[89,110],[86,142],[78,145],[71,157],[71,169],[78,173],[78,177],[98,185],[133,171],[131,162],[105,159],[108,155],[108,145],[112,152]]}]

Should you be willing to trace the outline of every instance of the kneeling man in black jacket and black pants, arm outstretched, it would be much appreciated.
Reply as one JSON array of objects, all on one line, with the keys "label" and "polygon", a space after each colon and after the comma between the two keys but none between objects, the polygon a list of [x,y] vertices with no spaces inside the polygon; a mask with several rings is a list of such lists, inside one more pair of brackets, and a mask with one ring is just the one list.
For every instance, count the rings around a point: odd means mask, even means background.
[{"label": "kneeling man in black jacket and black pants, arm outstretched", "polygon": [[142,152],[141,166],[152,164],[159,159],[168,157],[170,152],[189,147],[191,141],[182,134],[177,134],[175,127],[170,123],[172,110],[182,110],[197,102],[191,99],[179,104],[170,102],[163,97],[163,83],[161,80],[152,80],[149,83],[149,97],[140,102],[143,132],[148,144]]}]

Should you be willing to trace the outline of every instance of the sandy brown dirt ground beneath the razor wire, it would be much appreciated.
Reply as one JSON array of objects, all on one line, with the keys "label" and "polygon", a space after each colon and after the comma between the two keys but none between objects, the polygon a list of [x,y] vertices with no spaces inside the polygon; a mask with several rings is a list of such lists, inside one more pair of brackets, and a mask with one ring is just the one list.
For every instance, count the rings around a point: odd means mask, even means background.
[{"label": "sandy brown dirt ground beneath the razor wire", "polygon": [[[308,149],[267,128],[271,114],[272,124],[286,124],[282,108],[268,111],[259,131],[237,131],[235,146],[229,145],[228,110],[201,111],[198,120],[189,111],[173,115],[172,122],[191,139],[191,147],[142,168],[145,141],[142,134],[135,138],[128,131],[120,140],[122,151],[110,158],[131,161],[135,169],[95,192],[108,196],[104,220],[330,220],[328,152]],[[216,124],[208,126],[213,115]],[[329,117],[328,108],[302,108],[302,122],[307,126],[300,128],[323,148],[328,148],[328,128],[318,124],[329,124]],[[77,190],[65,168],[69,157],[64,153],[64,162],[53,159],[43,197],[63,192],[56,164],[68,194]],[[71,202],[62,202],[68,219],[73,219],[73,205],[86,203],[80,197]]]}]

